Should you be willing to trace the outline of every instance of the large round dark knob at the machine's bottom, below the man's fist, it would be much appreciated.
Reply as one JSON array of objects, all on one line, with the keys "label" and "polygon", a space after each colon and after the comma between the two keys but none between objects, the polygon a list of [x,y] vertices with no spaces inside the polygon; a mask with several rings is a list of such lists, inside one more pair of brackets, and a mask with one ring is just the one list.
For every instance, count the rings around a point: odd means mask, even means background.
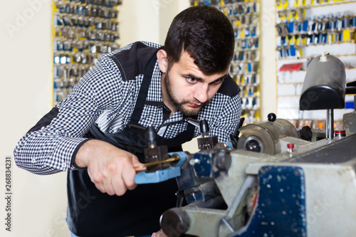
[{"label": "large round dark knob at the machine's bottom, below the man's fist", "polygon": [[190,218],[187,212],[179,208],[164,211],[159,220],[163,232],[169,237],[179,237],[187,232],[190,226]]}]

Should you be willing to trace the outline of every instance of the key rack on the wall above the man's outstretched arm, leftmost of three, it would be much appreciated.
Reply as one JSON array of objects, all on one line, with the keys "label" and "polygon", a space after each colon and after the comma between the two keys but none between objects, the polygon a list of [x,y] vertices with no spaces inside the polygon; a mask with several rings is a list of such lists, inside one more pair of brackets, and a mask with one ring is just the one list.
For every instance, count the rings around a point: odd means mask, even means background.
[{"label": "key rack on the wall above the man's outstretched arm, leftmost of three", "polygon": [[53,1],[53,105],[61,102],[102,53],[120,46],[122,0]]}]

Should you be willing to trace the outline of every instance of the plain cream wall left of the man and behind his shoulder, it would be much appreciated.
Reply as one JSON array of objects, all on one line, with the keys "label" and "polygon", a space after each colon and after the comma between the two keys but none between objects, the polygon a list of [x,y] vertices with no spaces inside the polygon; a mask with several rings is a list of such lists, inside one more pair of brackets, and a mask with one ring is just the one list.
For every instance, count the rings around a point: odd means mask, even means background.
[{"label": "plain cream wall left of the man and behind his shoulder", "polygon": [[[120,6],[120,44],[164,42],[173,17],[189,2],[124,0]],[[0,236],[68,237],[66,173],[38,176],[14,164],[13,150],[52,107],[52,1],[6,1],[0,8],[1,194],[5,194],[5,159],[11,157],[11,232],[1,222]],[[159,26],[159,27],[157,27]],[[0,199],[4,217],[6,200]]]}]

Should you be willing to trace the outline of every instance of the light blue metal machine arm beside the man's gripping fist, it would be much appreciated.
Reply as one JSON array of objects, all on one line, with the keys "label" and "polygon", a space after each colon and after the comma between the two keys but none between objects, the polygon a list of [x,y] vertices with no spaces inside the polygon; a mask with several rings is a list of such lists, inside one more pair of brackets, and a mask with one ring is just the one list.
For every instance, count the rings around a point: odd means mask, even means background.
[{"label": "light blue metal machine arm beside the man's gripping fist", "polygon": [[154,183],[159,183],[162,181],[166,181],[168,179],[172,179],[175,177],[179,177],[180,175],[180,167],[184,163],[184,161],[187,159],[187,154],[185,152],[172,152],[168,153],[169,157],[172,156],[172,154],[178,154],[180,157],[180,160],[178,164],[174,167],[169,166],[167,169],[162,169],[162,170],[157,170],[155,172],[140,172],[139,174],[135,175],[135,183],[136,184],[154,184]]}]

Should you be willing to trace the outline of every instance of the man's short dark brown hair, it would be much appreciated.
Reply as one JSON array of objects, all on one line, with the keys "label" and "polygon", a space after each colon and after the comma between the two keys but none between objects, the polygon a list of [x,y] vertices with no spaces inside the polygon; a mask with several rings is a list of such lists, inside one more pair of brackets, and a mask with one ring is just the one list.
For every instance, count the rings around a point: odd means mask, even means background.
[{"label": "man's short dark brown hair", "polygon": [[164,50],[169,68],[179,62],[182,51],[206,75],[221,73],[234,55],[234,29],[229,19],[214,6],[192,6],[174,17]]}]

